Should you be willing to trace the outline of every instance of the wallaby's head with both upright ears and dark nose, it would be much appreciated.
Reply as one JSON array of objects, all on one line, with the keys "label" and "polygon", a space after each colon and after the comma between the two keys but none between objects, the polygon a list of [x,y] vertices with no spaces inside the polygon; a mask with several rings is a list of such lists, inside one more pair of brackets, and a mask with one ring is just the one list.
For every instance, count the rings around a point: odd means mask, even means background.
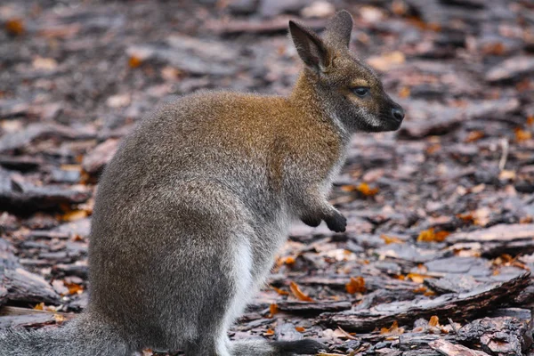
[{"label": "wallaby's head with both upright ears and dark nose", "polygon": [[318,93],[320,106],[350,131],[392,131],[401,126],[404,110],[392,101],[380,78],[350,50],[352,16],[337,12],[323,36],[289,21],[304,75]]}]

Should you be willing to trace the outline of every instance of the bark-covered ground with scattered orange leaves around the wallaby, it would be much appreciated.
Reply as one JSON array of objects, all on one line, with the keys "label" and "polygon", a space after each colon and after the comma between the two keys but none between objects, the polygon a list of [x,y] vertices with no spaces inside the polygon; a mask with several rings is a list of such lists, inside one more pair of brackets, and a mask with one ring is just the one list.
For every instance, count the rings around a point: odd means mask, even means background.
[{"label": "bark-covered ground with scattered orange leaves around the wallaby", "polygon": [[289,93],[287,20],[320,30],[342,8],[407,117],[354,137],[331,200],[347,231],[295,226],[231,338],[534,355],[529,0],[4,0],[0,328],[55,328],[85,307],[93,192],[136,121],[198,89]]}]

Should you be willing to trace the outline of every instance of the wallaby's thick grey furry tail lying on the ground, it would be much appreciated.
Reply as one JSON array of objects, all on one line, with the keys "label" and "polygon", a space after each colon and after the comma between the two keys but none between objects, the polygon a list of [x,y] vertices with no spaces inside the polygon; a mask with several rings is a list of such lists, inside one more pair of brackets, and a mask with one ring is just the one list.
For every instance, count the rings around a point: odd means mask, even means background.
[{"label": "wallaby's thick grey furry tail lying on the ground", "polygon": [[87,314],[61,328],[0,332],[2,356],[130,356],[133,352],[114,328]]}]

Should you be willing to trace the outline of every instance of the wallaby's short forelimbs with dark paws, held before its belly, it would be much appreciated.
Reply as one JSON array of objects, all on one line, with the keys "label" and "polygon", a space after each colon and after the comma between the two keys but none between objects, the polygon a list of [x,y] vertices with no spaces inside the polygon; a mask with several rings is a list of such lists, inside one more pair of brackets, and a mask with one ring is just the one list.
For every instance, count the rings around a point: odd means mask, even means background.
[{"label": "wallaby's short forelimbs with dark paws, held before its belly", "polygon": [[300,218],[306,225],[316,227],[324,220],[331,231],[345,231],[347,219],[318,190],[308,190],[301,204]]}]

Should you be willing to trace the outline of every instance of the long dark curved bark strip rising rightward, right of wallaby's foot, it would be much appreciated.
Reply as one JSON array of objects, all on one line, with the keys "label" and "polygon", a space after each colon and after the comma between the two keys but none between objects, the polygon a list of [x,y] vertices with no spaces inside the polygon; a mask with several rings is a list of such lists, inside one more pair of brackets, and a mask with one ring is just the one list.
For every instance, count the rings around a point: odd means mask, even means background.
[{"label": "long dark curved bark strip rising rightward, right of wallaby's foot", "polygon": [[378,304],[367,310],[324,313],[319,322],[338,326],[347,331],[368,331],[380,326],[389,326],[393,321],[409,323],[419,318],[469,318],[503,300],[512,298],[530,285],[530,273],[525,272],[501,283],[492,283],[460,294],[440,295],[434,299],[417,298],[411,302]]}]

